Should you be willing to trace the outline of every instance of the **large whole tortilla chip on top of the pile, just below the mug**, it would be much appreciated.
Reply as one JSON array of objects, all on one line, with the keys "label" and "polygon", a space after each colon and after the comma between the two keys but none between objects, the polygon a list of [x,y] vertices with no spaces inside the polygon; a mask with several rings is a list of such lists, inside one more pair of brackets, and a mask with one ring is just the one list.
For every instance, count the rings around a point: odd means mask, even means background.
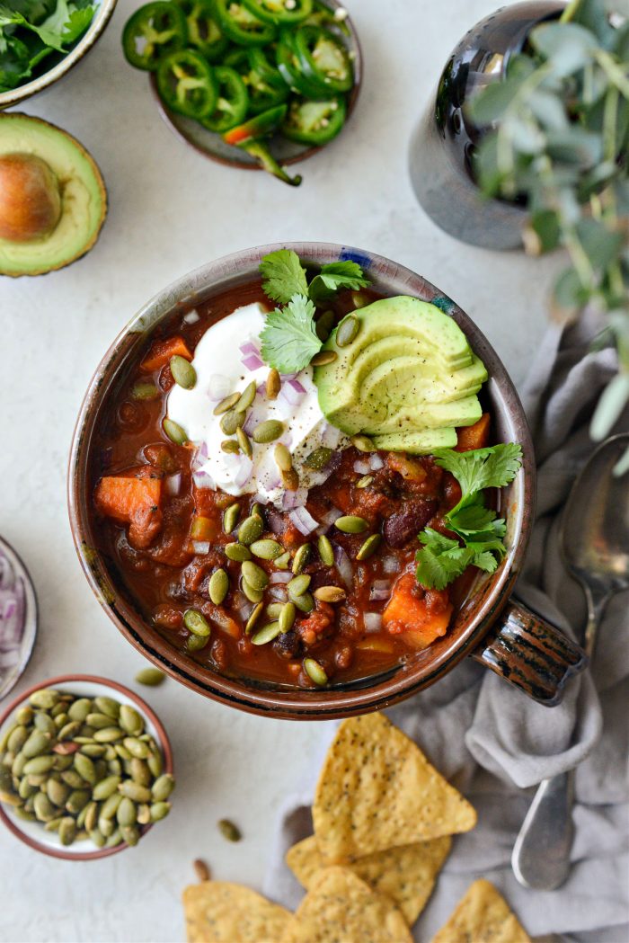
[{"label": "large whole tortilla chip on top of the pile, just below the mug", "polygon": [[468,832],[476,813],[383,714],[344,720],[312,806],[326,864]]}]

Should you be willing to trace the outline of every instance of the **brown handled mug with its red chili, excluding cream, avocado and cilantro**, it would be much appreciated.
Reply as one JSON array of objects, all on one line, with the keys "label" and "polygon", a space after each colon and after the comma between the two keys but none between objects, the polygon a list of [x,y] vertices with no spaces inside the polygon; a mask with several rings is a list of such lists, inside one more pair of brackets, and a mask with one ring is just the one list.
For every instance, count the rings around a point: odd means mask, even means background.
[{"label": "brown handled mug with its red chili, excluding cream, avocado and cilantro", "polygon": [[[455,302],[422,276],[389,259],[345,246],[289,246],[306,267],[315,271],[339,260],[358,261],[371,280],[365,290],[368,296],[403,294],[435,303],[454,319],[473,352],[486,365],[488,382],[482,395],[487,419],[481,423],[480,432],[477,430],[482,437],[477,444],[519,442],[523,454],[520,472],[496,498],[506,518],[506,536],[505,555],[495,571],[471,572],[460,584],[453,585],[447,599],[439,595],[439,590],[431,594],[416,589],[411,570],[419,548],[418,532],[436,509],[452,506],[456,500],[449,494],[452,481],[439,472],[430,456],[419,459],[422,468],[417,472],[417,463],[411,460],[405,466],[405,456],[399,453],[391,458],[386,452],[378,452],[374,460],[353,447],[344,449],[335,457],[334,474],[308,492],[307,507],[295,507],[288,513],[278,512],[271,505],[260,511],[261,499],[252,493],[245,496],[245,502],[235,503],[233,495],[223,494],[221,488],[197,488],[198,475],[204,472],[193,467],[196,459],[190,443],[182,444],[185,436],[177,444],[177,429],[181,432],[181,428],[176,422],[169,426],[171,420],[166,415],[166,394],[174,386],[172,373],[175,366],[177,371],[181,367],[175,361],[178,357],[190,366],[191,353],[188,360],[181,354],[198,349],[201,356],[197,345],[207,331],[217,325],[221,328],[222,323],[225,330],[234,325],[232,342],[238,346],[240,327],[228,316],[235,308],[263,302],[258,267],[264,256],[280,248],[266,246],[227,256],[161,291],[124,328],[94,374],[74,433],[69,505],[79,559],[109,618],[131,644],[187,687],[260,715],[321,720],[380,709],[439,681],[467,654],[540,703],[558,703],[571,675],[584,667],[584,655],[553,626],[510,598],[521,570],[535,504],[533,447],[521,403],[488,340]],[[339,295],[338,302],[331,303],[339,308],[338,317],[352,309],[352,299],[352,293],[346,292]],[[363,303],[365,300],[371,299],[363,299]],[[249,357],[255,358],[247,343],[241,350],[243,363]],[[250,367],[255,369],[255,365]],[[255,384],[253,387],[255,395]],[[209,404],[207,411],[209,414]],[[409,458],[412,456],[406,456]],[[205,460],[207,455],[202,455]],[[121,471],[122,480],[117,477]],[[419,484],[412,481],[413,474]],[[364,497],[356,497],[360,495],[359,479],[364,478],[375,479],[375,486],[371,487],[370,482],[370,488],[363,488]],[[105,479],[107,487],[102,484]],[[120,501],[127,500],[129,489],[142,495],[140,513],[133,520],[120,513]],[[170,499],[158,510],[162,493],[169,493]],[[355,533],[339,533],[341,521],[335,522],[339,514],[344,511],[350,518],[356,515],[356,510],[348,510],[347,501],[362,502],[359,506],[365,508],[365,517],[376,521],[378,539],[384,538],[386,553],[360,555],[368,537],[362,534],[365,521],[359,529],[353,528]],[[326,517],[335,510],[335,503],[336,515]],[[233,536],[238,518],[226,525],[224,516],[233,504],[237,505],[234,513],[240,514],[240,522],[260,515],[261,522],[254,521],[256,534],[252,535],[254,541],[264,545],[259,548],[260,556],[262,550],[271,554],[273,547],[280,546],[280,540],[290,546],[288,572],[282,575],[279,566],[267,566],[264,559],[258,559],[251,540],[240,542],[251,544],[257,562],[247,546],[232,559],[235,551],[228,544],[238,542]],[[300,527],[304,512],[306,528]],[[296,565],[297,556],[307,555],[312,549],[303,552],[300,548],[313,540],[304,536],[304,530],[310,534],[308,519],[313,517],[315,526],[321,524],[317,534],[328,534],[328,543],[334,545],[334,562],[324,559],[318,545],[319,556],[306,559],[300,567]],[[197,532],[195,528],[201,523]],[[154,539],[157,542],[153,543]],[[273,554],[267,554],[267,558]],[[356,559],[358,562],[351,562]],[[263,574],[259,587],[249,589],[257,593],[260,587],[270,586],[272,595],[265,597],[270,606],[274,599],[286,598],[287,584],[295,574],[307,577],[314,599],[303,612],[292,614],[298,620],[297,645],[294,631],[278,637],[274,626],[273,630],[267,629],[269,638],[257,640],[252,636],[249,620],[253,609],[261,608],[262,594],[244,598],[234,573],[248,567],[246,579],[243,570],[244,590],[249,579],[256,584],[260,563],[269,572],[273,569],[273,582],[268,573]],[[346,588],[335,596],[336,602],[343,600],[343,615],[331,615],[335,599],[328,600],[318,589],[328,591],[334,582],[338,593],[339,576],[342,578],[348,563]],[[330,568],[334,567],[337,571],[333,580]],[[218,571],[223,575],[217,575]],[[393,589],[391,572],[396,580]],[[224,587],[219,587],[223,581]],[[387,592],[384,582],[388,582]],[[290,596],[290,586],[288,591]],[[385,597],[385,613],[393,600],[392,609],[397,613],[389,634],[383,630],[387,617],[379,602]],[[370,619],[365,621],[368,610]],[[415,628],[420,636],[418,641],[417,633],[411,632],[416,644],[410,648],[407,638],[396,634],[400,631],[399,620],[404,620],[408,611],[418,614]],[[190,612],[196,615],[190,616]],[[432,614],[433,627],[440,625],[429,642],[422,638],[419,624],[426,612]],[[277,619],[274,609],[273,619]],[[312,665],[313,670],[308,670],[306,662],[323,666],[324,677],[318,677]]]}]

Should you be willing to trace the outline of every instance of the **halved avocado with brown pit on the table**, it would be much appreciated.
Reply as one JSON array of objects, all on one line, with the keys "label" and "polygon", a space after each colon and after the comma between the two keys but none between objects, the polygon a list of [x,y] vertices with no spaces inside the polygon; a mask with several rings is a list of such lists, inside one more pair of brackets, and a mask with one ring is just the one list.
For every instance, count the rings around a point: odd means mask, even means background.
[{"label": "halved avocado with brown pit on the table", "polygon": [[0,274],[70,265],[106,216],[103,177],[78,141],[41,118],[0,114]]}]

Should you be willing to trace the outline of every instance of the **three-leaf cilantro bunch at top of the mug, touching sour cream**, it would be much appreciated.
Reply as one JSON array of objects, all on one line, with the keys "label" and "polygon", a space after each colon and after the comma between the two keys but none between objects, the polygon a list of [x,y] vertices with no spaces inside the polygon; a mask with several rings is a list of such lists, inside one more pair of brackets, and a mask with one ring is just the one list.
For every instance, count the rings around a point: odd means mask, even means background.
[{"label": "three-leaf cilantro bunch at top of the mug, touching sour cream", "polygon": [[317,335],[316,306],[329,301],[341,289],[358,290],[369,285],[360,266],[351,260],[323,265],[308,284],[306,269],[291,249],[279,249],[260,262],[262,288],[283,307],[276,307],[260,333],[265,363],[280,373],[297,373],[323,347]]}]

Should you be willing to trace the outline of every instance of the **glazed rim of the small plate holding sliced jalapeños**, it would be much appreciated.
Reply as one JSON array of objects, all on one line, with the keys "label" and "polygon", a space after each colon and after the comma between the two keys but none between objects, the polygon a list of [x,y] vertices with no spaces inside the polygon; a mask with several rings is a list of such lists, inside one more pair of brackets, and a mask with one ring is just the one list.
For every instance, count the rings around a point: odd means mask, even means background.
[{"label": "glazed rim of the small plate holding sliced jalape\u00f1os", "polygon": [[[342,3],[339,3],[339,0],[325,0],[325,3],[328,7],[332,9],[344,9],[344,5]],[[349,122],[350,118],[354,114],[354,111],[356,108],[356,102],[358,101],[358,95],[360,93],[360,89],[362,88],[364,64],[363,64],[362,48],[360,46],[360,41],[358,39],[358,34],[356,32],[356,26],[352,22],[352,17],[348,15],[347,18],[343,22],[345,23],[345,25],[347,25],[350,31],[349,40],[351,41],[351,51],[356,54],[353,61],[355,82],[354,82],[354,87],[352,91],[350,92],[349,97],[347,99],[347,115],[345,117],[345,122],[343,126],[341,127],[339,134],[335,138],[333,138],[332,141],[326,141],[326,143],[324,144],[310,144],[310,145],[302,144],[301,146],[304,148],[304,150],[299,151],[299,153],[294,154],[292,157],[285,157],[285,158],[277,157],[282,167],[290,167],[291,164],[301,163],[302,160],[307,160],[308,157],[312,157],[313,155],[318,154],[320,151],[323,151],[324,148],[328,147],[330,144],[333,144],[335,141],[337,141],[338,138],[342,136],[347,126],[347,123]],[[243,47],[243,48],[247,48],[247,47]],[[170,110],[170,108],[167,108],[164,105],[161,98],[159,97],[159,94],[157,92],[157,83],[156,83],[154,73],[149,75],[149,85],[153,93],[153,96],[155,97],[157,110],[159,111],[159,115],[162,121],[168,125],[169,129],[173,132],[175,138],[178,138],[179,141],[183,141],[185,144],[188,144],[189,147],[195,150],[197,154],[202,155],[202,157],[207,157],[208,160],[213,160],[215,163],[223,164],[223,167],[232,167],[240,171],[264,170],[264,168],[260,167],[260,165],[257,163],[257,160],[245,161],[241,158],[239,159],[238,154],[241,152],[240,152],[240,148],[237,147],[236,145],[234,145],[231,148],[231,150],[234,153],[234,157],[223,157],[223,155],[221,154],[214,154],[211,151],[207,150],[207,148],[201,147],[196,141],[192,141],[191,138],[189,138],[189,136],[178,126],[178,124],[176,124],[176,119],[173,116],[173,112]],[[210,134],[211,132],[208,131],[207,133]],[[217,134],[216,137],[220,137],[220,135]]]}]

